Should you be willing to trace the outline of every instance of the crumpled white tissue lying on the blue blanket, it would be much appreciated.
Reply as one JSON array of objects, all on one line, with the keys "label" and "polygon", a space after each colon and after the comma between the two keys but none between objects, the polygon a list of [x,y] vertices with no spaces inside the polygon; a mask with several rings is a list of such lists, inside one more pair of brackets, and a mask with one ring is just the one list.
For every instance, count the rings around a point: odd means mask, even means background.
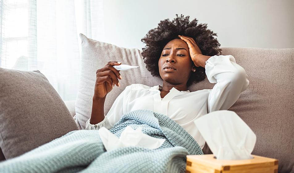
[{"label": "crumpled white tissue lying on the blue blanket", "polygon": [[107,151],[127,146],[140,146],[148,149],[157,149],[165,141],[165,139],[158,139],[146,135],[142,132],[141,127],[134,130],[131,126],[127,126],[121,133],[120,138],[115,136],[105,127],[101,127],[98,130],[98,133]]}]

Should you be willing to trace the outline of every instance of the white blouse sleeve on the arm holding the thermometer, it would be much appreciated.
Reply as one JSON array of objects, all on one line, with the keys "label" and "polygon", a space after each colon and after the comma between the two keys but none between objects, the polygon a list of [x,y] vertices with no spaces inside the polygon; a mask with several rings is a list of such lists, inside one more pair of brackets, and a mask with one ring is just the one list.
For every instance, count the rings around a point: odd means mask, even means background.
[{"label": "white blouse sleeve on the arm holding the thermometer", "polygon": [[107,115],[104,114],[104,119],[97,124],[90,124],[90,119],[86,122],[86,130],[100,129],[105,127],[106,129],[113,128],[114,124],[118,122],[121,116],[124,114],[124,108],[128,104],[127,98],[129,98],[131,92],[131,86],[126,86],[124,91],[115,99]]}]

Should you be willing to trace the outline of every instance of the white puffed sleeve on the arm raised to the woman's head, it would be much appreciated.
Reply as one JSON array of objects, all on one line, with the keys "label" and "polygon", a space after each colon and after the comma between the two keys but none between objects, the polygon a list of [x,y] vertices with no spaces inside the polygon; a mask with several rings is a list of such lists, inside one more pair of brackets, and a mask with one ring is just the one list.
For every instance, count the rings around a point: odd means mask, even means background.
[{"label": "white puffed sleeve on the arm raised to the woman's head", "polygon": [[232,55],[210,57],[205,73],[210,83],[216,83],[208,96],[208,113],[229,109],[249,85],[245,70]]}]

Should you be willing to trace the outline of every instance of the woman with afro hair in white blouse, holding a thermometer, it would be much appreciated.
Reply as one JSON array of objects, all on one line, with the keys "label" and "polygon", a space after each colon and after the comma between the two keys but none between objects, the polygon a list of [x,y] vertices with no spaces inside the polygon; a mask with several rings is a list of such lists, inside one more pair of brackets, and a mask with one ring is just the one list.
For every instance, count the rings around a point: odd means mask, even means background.
[{"label": "woman with afro hair in white blouse, holding a thermometer", "polygon": [[[111,129],[124,113],[150,109],[180,124],[203,149],[205,141],[193,121],[209,112],[230,108],[249,81],[232,55],[217,55],[221,53],[220,44],[206,24],[198,24],[197,19],[190,22],[189,16],[176,16],[172,21],[161,21],[141,40],[146,43],[142,49],[146,68],[163,79],[162,86],[127,86],[105,116],[106,95],[114,85],[120,86],[118,79],[122,79],[112,67],[120,62],[108,62],[96,72],[92,114],[86,129]],[[216,83],[213,89],[187,90],[187,86],[203,81],[205,75],[209,82]]]}]

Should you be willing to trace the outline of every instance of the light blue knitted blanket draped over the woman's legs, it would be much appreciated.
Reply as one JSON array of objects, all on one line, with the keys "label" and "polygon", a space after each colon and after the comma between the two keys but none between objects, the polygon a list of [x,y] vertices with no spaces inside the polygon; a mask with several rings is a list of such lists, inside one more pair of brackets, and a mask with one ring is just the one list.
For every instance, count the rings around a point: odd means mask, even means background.
[{"label": "light blue knitted blanket draped over the woman's legs", "polygon": [[150,150],[123,147],[106,151],[98,130],[75,130],[16,158],[0,162],[0,172],[185,172],[186,155],[203,154],[197,142],[169,117],[140,109],[122,116],[111,133],[131,125],[166,141]]}]

